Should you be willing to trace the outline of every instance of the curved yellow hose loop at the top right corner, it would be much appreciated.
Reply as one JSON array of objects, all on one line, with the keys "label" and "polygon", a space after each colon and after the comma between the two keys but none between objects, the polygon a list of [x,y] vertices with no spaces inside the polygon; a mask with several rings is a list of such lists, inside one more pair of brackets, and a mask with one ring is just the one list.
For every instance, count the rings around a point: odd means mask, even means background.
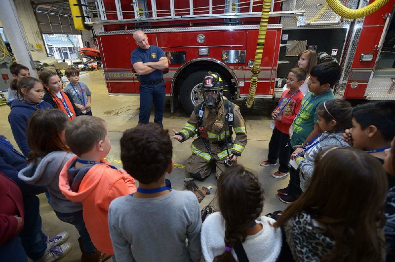
[{"label": "curved yellow hose loop at the top right corner", "polygon": [[326,0],[333,12],[344,18],[356,19],[361,18],[380,9],[389,0],[375,0],[369,5],[360,9],[350,9],[344,6],[339,0]]}]

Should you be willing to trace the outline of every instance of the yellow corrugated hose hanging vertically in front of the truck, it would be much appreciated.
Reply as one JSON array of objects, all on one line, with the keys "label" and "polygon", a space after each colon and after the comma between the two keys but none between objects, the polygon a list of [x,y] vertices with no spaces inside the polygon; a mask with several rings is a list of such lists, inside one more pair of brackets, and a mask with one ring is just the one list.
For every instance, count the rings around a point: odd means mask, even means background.
[{"label": "yellow corrugated hose hanging vertically in front of the truck", "polygon": [[254,103],[254,97],[256,92],[256,82],[258,80],[258,74],[261,71],[261,61],[263,54],[263,47],[266,39],[266,31],[268,29],[269,12],[270,12],[271,0],[263,0],[262,4],[262,14],[261,14],[261,24],[259,25],[258,41],[256,44],[254,66],[251,69],[251,85],[248,92],[248,98],[246,102],[246,107],[251,108]]}]

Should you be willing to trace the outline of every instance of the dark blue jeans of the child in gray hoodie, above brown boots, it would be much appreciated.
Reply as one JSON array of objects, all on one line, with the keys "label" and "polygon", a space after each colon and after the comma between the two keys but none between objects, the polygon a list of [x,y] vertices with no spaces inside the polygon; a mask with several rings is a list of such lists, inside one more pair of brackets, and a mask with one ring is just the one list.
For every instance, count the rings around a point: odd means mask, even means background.
[{"label": "dark blue jeans of the child in gray hoodie, above brown boots", "polygon": [[[63,222],[74,225],[79,232],[83,251],[85,254],[92,254],[96,252],[96,247],[93,245],[90,239],[88,230],[85,227],[85,222],[82,217],[82,210],[74,213],[60,213],[56,212],[56,216]],[[82,250],[81,250],[82,251]]]}]

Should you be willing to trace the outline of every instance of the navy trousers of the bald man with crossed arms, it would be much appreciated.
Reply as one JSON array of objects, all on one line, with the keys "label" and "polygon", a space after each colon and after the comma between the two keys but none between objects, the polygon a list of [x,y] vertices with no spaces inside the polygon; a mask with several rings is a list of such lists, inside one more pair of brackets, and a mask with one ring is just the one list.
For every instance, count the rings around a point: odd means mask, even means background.
[{"label": "navy trousers of the bald man with crossed arms", "polygon": [[151,107],[154,102],[155,119],[154,122],[163,127],[164,102],[166,100],[166,85],[160,82],[156,85],[140,85],[140,113],[139,124],[148,124],[150,122]]}]

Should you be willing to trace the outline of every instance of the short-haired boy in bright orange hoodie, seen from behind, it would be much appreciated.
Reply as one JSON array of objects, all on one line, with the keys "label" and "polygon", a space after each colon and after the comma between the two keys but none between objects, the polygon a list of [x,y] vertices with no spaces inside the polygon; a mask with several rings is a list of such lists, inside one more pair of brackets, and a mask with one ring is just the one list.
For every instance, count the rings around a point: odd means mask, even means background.
[{"label": "short-haired boy in bright orange hoodie, seen from behind", "polygon": [[65,136],[77,156],[60,172],[59,189],[69,200],[82,203],[83,220],[95,247],[114,254],[108,209],[115,198],[136,192],[136,183],[123,169],[103,161],[111,149],[104,120],[79,116],[68,123]]}]

